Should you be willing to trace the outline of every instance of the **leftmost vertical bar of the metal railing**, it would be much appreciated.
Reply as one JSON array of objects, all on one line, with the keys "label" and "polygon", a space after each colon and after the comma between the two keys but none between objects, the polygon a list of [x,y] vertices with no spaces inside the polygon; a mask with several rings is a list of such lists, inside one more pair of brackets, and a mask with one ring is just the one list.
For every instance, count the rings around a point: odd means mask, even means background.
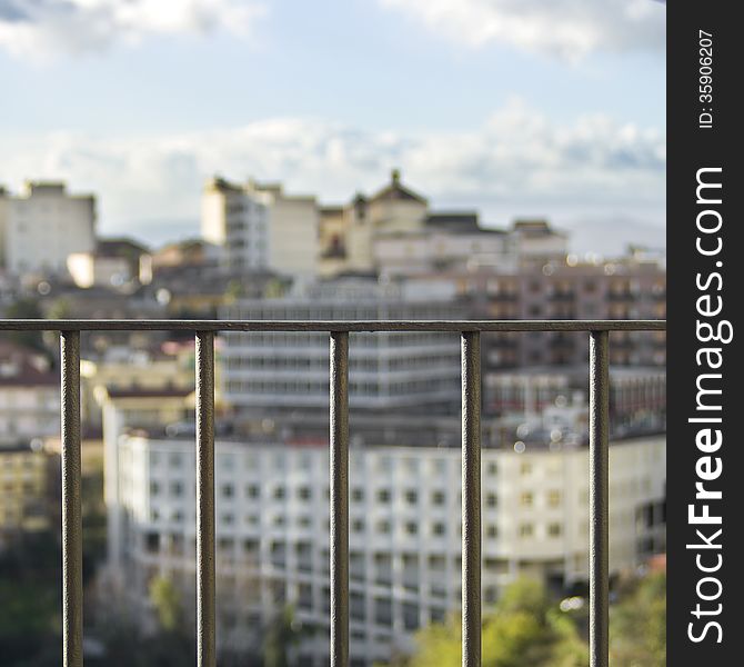
[{"label": "leftmost vertical bar of the metal railing", "polygon": [[60,332],[62,432],[62,664],[82,666],[80,331]]}]

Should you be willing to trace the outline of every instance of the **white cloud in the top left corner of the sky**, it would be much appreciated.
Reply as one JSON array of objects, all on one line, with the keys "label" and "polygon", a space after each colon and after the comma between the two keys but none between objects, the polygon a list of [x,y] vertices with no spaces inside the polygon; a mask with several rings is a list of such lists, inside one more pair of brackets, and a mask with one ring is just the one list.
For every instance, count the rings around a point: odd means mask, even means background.
[{"label": "white cloud in the top left corner of the sky", "polygon": [[0,0],[0,48],[48,59],[148,34],[249,34],[264,12],[253,0]]}]

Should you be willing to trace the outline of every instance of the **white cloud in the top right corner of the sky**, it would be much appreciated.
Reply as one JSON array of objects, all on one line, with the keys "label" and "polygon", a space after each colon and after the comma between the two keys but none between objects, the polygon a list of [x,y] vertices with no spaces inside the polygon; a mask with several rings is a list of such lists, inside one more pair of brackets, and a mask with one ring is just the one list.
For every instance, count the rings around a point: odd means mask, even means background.
[{"label": "white cloud in the top right corner of the sky", "polygon": [[594,51],[663,50],[652,0],[380,0],[458,43],[503,42],[576,61]]}]

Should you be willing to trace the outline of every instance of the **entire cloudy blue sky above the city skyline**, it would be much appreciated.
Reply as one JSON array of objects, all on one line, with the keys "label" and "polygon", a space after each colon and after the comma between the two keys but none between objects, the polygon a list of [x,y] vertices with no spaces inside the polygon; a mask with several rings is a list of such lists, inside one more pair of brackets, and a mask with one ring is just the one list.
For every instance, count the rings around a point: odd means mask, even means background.
[{"label": "entire cloudy blue sky above the city skyline", "polygon": [[664,243],[653,0],[0,0],[0,183],[66,179],[104,233],[194,235],[203,179]]}]

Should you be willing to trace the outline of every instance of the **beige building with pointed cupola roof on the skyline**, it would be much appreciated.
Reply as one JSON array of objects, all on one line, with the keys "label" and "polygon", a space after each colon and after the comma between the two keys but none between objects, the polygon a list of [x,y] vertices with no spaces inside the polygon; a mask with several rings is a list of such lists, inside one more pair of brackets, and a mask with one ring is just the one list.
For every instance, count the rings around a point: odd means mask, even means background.
[{"label": "beige building with pointed cupola roof on the skyline", "polygon": [[567,235],[545,220],[510,229],[481,227],[473,211],[431,211],[424,197],[391,181],[369,199],[321,209],[321,273],[376,272],[405,278],[448,270],[516,270],[564,260]]}]

